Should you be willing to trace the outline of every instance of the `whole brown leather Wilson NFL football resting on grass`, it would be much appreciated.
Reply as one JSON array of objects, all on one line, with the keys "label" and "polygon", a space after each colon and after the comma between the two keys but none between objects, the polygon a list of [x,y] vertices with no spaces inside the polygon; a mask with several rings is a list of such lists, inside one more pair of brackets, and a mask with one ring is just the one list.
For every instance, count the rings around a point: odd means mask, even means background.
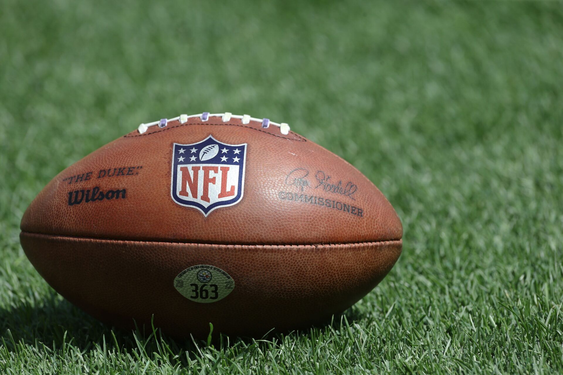
[{"label": "whole brown leather Wilson NFL football resting on grass", "polygon": [[342,313],[389,272],[403,228],[340,157],[247,115],[181,115],[57,175],[21,220],[29,260],[119,327],[260,336]]}]

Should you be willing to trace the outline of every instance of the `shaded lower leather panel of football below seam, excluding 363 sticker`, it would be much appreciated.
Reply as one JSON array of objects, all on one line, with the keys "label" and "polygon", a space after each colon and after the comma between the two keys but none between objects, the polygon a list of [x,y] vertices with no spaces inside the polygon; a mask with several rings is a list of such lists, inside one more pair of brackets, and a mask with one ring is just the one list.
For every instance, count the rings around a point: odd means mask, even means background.
[{"label": "shaded lower leather panel of football below seam, excluding 363 sticker", "polygon": [[[306,328],[341,313],[395,264],[401,241],[347,245],[206,245],[114,241],[22,232],[21,245],[57,291],[119,327],[154,324],[173,336],[214,332],[260,337]],[[173,288],[186,266],[212,264],[236,282],[212,304]]]}]

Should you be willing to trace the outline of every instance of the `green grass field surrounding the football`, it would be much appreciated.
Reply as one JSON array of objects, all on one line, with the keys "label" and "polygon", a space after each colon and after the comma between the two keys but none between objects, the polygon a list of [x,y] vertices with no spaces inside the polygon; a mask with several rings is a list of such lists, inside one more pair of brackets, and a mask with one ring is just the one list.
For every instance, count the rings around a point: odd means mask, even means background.
[{"label": "green grass field surrounding the football", "polygon": [[[123,332],[19,243],[59,171],[143,122],[248,113],[341,155],[404,224],[332,325]],[[0,373],[563,373],[563,3],[0,4]]]}]

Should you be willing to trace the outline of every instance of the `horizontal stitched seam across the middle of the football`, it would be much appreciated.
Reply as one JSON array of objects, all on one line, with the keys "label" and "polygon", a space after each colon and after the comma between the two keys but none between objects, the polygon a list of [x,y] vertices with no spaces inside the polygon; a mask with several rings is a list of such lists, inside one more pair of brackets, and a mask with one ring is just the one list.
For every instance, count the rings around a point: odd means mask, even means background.
[{"label": "horizontal stitched seam across the middle of the football", "polygon": [[115,238],[101,238],[101,237],[86,237],[86,236],[68,236],[66,234],[46,234],[21,231],[25,234],[35,234],[46,237],[64,237],[74,240],[95,240],[95,241],[111,241],[111,242],[138,242],[138,243],[171,243],[177,245],[209,245],[209,246],[248,246],[248,247],[320,247],[320,246],[339,246],[339,245],[385,245],[387,243],[402,242],[403,238],[399,240],[383,240],[383,241],[366,241],[366,242],[336,242],[336,243],[295,243],[284,245],[263,245],[263,244],[247,244],[247,243],[199,243],[199,242],[180,242],[180,241],[154,241],[154,240],[117,240]]}]

